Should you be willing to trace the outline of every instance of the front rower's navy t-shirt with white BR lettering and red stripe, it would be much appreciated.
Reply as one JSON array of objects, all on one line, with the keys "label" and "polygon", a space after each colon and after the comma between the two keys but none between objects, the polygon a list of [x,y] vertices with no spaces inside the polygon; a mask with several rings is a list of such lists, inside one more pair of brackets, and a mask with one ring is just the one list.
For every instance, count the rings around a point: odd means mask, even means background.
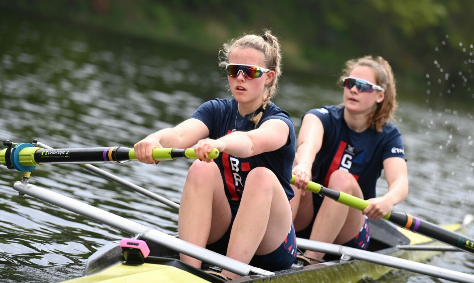
[{"label": "front rower's navy t-shirt with white BR lettering and red stripe", "polygon": [[[291,200],[294,196],[290,180],[295,157],[296,136],[290,115],[276,107],[275,104],[269,103],[260,122],[255,127],[255,124],[249,120],[251,114],[247,114],[245,117],[237,114],[237,104],[235,99],[216,98],[203,103],[191,118],[201,120],[206,124],[209,129],[209,137],[212,139],[218,139],[231,133],[236,125],[238,131],[250,131],[260,127],[262,123],[270,119],[283,120],[290,128],[290,135],[287,145],[272,152],[264,152],[247,158],[239,158],[225,152],[219,154],[219,158],[215,159],[214,162],[219,166],[229,203],[234,205],[240,203],[247,174],[256,167],[270,169],[282,184],[288,200]],[[274,134],[278,135],[278,133]]]}]

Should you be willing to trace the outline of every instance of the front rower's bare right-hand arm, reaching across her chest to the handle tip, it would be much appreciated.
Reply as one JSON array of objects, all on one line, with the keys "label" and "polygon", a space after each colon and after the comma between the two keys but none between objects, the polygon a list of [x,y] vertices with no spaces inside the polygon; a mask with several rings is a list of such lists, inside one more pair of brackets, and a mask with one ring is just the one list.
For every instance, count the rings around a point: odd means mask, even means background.
[{"label": "front rower's bare right-hand arm, reaching across her chest to the handle tip", "polygon": [[194,150],[202,160],[207,160],[207,154],[213,147],[221,152],[245,158],[277,150],[286,144],[289,134],[290,128],[283,120],[270,119],[258,129],[233,132],[217,140],[200,140]]}]

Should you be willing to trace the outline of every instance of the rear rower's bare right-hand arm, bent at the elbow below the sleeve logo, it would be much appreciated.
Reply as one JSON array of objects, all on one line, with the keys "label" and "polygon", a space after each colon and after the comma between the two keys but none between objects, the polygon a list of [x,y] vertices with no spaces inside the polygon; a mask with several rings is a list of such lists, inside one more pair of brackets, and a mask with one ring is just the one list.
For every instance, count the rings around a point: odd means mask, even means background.
[{"label": "rear rower's bare right-hand arm, bent at the elbow below the sleeve logo", "polygon": [[383,171],[388,184],[388,192],[382,197],[368,199],[370,205],[364,210],[370,218],[379,219],[392,211],[408,195],[408,169],[401,157],[390,157],[383,161]]}]

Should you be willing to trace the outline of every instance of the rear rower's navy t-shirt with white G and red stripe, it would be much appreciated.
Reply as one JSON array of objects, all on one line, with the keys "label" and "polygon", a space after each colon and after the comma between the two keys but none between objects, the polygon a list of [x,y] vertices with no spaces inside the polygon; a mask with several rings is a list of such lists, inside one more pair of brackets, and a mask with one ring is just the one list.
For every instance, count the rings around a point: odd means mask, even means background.
[{"label": "rear rower's navy t-shirt with white G and red stripe", "polygon": [[366,129],[357,133],[344,120],[344,107],[324,106],[306,114],[318,116],[324,127],[321,149],[312,167],[312,180],[327,187],[332,172],[342,169],[357,180],[364,199],[376,197],[375,185],[389,157],[405,159],[401,134],[391,123],[382,132]]}]

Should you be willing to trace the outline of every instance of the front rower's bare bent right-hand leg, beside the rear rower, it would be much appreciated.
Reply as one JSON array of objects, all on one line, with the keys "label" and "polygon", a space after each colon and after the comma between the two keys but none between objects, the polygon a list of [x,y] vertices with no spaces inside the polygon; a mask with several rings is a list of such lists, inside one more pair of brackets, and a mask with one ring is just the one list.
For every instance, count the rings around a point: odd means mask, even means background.
[{"label": "front rower's bare bent right-hand leg, beside the rear rower", "polygon": [[[247,175],[227,256],[249,263],[255,254],[269,254],[283,243],[291,224],[290,204],[282,185],[269,169],[257,167]],[[239,277],[226,270],[222,274]]]}]

